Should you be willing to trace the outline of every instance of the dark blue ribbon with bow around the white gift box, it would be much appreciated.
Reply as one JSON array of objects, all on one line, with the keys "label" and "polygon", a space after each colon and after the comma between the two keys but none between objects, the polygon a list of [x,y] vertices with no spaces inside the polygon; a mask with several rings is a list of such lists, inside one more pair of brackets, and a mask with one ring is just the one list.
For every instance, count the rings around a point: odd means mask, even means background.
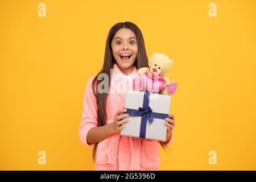
[{"label": "dark blue ribbon with bow around the white gift box", "polygon": [[168,114],[163,113],[154,113],[149,105],[149,97],[150,93],[144,93],[143,97],[143,106],[136,109],[126,108],[127,111],[125,113],[132,116],[141,116],[141,129],[139,132],[139,137],[145,138],[146,136],[146,127],[147,127],[147,119],[150,124],[154,121],[154,118],[165,119],[168,118]]}]

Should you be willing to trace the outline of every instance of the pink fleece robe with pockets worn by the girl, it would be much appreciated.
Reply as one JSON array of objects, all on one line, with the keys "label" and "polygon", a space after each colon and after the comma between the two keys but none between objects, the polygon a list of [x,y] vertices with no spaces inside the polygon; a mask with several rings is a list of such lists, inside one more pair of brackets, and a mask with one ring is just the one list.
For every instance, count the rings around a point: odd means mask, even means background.
[{"label": "pink fleece robe with pockets worn by the girl", "polygon": [[[118,77],[119,76],[119,77]],[[125,105],[125,92],[117,91],[118,85],[125,84],[126,90],[132,88],[133,78],[138,76],[134,67],[128,80],[122,74],[117,64],[114,64],[109,94],[106,98],[106,124],[114,121],[114,115]],[[92,127],[97,127],[97,103],[92,90],[93,77],[90,77],[86,85],[79,137],[86,146],[87,134]],[[173,136],[173,133],[172,133]],[[164,144],[168,146],[172,138]],[[119,134],[105,138],[98,143],[96,151],[95,170],[159,170],[159,142],[144,138],[125,137]]]}]

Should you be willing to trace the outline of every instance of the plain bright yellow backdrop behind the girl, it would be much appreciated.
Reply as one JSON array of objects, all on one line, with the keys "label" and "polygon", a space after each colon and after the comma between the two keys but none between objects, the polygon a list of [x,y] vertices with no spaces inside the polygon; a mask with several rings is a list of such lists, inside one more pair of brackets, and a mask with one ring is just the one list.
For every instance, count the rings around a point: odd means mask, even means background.
[{"label": "plain bright yellow backdrop behind the girl", "polygon": [[[46,4],[46,17],[38,4]],[[217,17],[209,17],[209,3]],[[88,78],[110,28],[137,24],[174,60],[171,152],[161,170],[256,169],[256,1],[0,1],[0,169],[93,170],[79,140]],[[46,165],[38,151],[46,151]],[[217,165],[208,152],[217,152]]]}]

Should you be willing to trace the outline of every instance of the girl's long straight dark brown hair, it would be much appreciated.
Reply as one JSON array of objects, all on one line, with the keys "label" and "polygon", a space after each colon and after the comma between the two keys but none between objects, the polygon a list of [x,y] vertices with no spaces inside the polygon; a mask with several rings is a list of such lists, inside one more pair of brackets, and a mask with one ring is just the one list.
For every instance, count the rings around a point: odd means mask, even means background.
[{"label": "girl's long straight dark brown hair", "polygon": [[[121,28],[129,28],[131,31],[134,32],[137,38],[137,45],[138,45],[138,53],[137,53],[137,59],[135,60],[135,67],[137,69],[143,68],[143,67],[149,67],[148,66],[148,59],[147,59],[147,53],[146,53],[146,48],[144,45],[144,39],[141,30],[139,30],[139,27],[137,27],[134,23],[131,22],[121,22],[115,24],[109,31],[108,38],[106,40],[106,47],[105,47],[105,56],[104,56],[104,63],[101,68],[101,71],[94,77],[93,82],[92,82],[92,88],[93,88],[93,93],[94,96],[96,97],[97,105],[98,105],[98,126],[104,126],[106,125],[106,97],[108,96],[108,93],[98,93],[97,88],[98,84],[100,84],[100,80],[97,80],[98,75],[100,73],[106,73],[108,75],[109,79],[109,86],[110,86],[110,80],[111,76],[110,75],[110,69],[113,69],[114,63],[116,63],[114,56],[112,54],[112,47],[111,43],[114,38],[114,35],[117,33],[117,31]],[[104,81],[104,80],[102,80]],[[160,142],[161,146],[164,148],[166,146],[163,145],[162,142]],[[97,150],[98,142],[94,144],[93,148],[93,159],[95,158],[95,153]]]}]

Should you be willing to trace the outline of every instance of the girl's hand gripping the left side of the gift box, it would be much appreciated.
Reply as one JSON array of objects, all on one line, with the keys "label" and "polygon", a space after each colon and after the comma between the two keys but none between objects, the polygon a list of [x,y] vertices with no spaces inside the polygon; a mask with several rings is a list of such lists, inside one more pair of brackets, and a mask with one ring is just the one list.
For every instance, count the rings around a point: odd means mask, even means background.
[{"label": "girl's hand gripping the left side of the gift box", "polygon": [[[113,134],[120,133],[123,129],[123,124],[128,122],[128,119],[123,119],[129,117],[129,114],[123,114],[126,112],[126,109],[120,109],[114,115],[114,121],[110,123],[110,130],[112,130]],[[123,120],[122,120],[123,119]]]}]

